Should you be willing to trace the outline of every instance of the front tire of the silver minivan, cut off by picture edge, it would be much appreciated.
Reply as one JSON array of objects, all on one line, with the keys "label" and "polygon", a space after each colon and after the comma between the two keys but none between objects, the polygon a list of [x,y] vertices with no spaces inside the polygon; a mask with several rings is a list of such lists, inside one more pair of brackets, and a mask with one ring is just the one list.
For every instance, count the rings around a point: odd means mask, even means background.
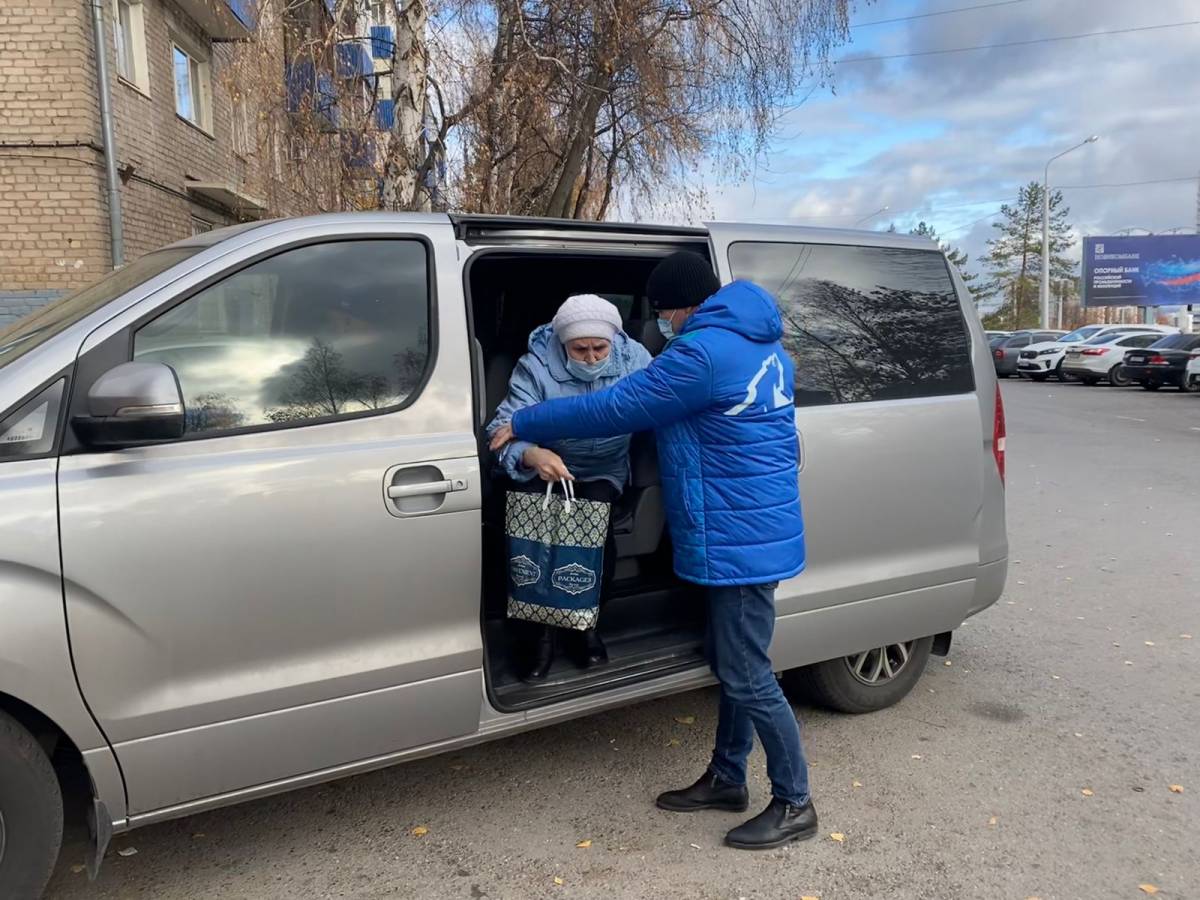
[{"label": "front tire of the silver minivan, cut off by picture edge", "polygon": [[0,712],[0,896],[41,896],[61,844],[59,779],[34,736]]}]

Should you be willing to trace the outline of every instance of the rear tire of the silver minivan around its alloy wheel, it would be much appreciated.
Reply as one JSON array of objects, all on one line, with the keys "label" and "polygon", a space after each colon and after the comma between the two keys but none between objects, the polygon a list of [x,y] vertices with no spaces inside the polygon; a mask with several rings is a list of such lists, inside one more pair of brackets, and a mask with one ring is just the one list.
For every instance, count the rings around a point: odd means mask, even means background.
[{"label": "rear tire of the silver minivan around its alloy wheel", "polygon": [[[905,644],[888,644],[886,648],[826,660],[785,673],[785,686],[839,713],[859,714],[887,709],[904,700],[920,680],[932,646],[932,637],[920,637]],[[880,650],[889,650],[889,659],[895,660],[895,650],[900,647],[906,648],[908,655],[893,677],[868,684],[854,674],[856,664],[862,670],[869,670],[864,672],[865,676],[871,674],[876,670]],[[866,659],[860,664],[859,660],[864,656]]]}]

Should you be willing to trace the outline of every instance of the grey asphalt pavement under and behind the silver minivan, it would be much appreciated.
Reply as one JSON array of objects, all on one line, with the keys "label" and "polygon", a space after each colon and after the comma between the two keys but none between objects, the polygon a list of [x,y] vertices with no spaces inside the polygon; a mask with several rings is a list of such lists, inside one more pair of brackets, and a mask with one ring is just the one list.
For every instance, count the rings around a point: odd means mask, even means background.
[{"label": "grey asphalt pavement under and behind the silver minivan", "polygon": [[820,839],[653,808],[707,760],[702,690],[121,835],[95,884],[76,838],[50,895],[1200,896],[1200,397],[1003,391],[1008,592],[898,707],[799,708]]}]

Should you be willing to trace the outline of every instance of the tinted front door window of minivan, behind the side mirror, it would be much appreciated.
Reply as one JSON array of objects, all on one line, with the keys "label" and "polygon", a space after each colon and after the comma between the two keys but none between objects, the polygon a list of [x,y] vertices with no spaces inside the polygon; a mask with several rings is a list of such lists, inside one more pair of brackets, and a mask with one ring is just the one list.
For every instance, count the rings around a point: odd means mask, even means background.
[{"label": "tinted front door window of minivan, behind the side mirror", "polygon": [[191,433],[395,407],[430,358],[427,269],[412,240],[298,247],[144,325],[133,358],[175,370]]}]

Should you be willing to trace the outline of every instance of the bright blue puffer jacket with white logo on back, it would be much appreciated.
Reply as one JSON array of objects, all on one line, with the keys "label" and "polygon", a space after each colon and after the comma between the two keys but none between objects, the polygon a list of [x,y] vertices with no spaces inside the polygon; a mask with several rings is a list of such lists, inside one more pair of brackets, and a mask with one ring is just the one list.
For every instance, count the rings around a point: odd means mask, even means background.
[{"label": "bright blue puffer jacket with white logo on back", "polygon": [[676,572],[761,584],[804,570],[792,361],[774,299],[748,281],[716,292],[649,367],[611,390],[522,409],[523,440],[654,428]]}]

